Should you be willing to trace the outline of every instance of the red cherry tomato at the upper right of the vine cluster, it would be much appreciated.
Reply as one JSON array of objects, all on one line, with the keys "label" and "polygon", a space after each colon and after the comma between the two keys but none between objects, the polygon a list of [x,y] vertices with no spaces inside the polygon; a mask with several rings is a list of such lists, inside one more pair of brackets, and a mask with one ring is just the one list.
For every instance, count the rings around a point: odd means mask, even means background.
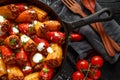
[{"label": "red cherry tomato at the upper right of the vine cluster", "polygon": [[93,56],[91,58],[91,64],[100,68],[103,66],[103,58],[101,56]]}]

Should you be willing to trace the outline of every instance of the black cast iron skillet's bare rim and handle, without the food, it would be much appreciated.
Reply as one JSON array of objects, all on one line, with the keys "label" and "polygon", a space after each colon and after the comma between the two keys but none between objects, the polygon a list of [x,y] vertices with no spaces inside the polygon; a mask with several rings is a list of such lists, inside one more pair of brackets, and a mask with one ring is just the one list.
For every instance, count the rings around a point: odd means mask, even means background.
[{"label": "black cast iron skillet's bare rim and handle, without the food", "polygon": [[[69,42],[69,34],[71,33],[71,31],[73,29],[76,29],[78,27],[82,27],[84,25],[93,23],[93,22],[101,22],[101,21],[108,21],[110,19],[112,19],[112,13],[108,8],[103,8],[102,10],[96,12],[93,15],[90,15],[86,18],[81,19],[80,21],[76,21],[76,22],[66,22],[66,21],[62,21],[58,15],[46,4],[42,3],[39,0],[5,0],[0,2],[0,6],[2,5],[6,5],[6,4],[11,4],[11,3],[27,3],[27,4],[31,4],[31,5],[35,5],[39,8],[41,8],[42,10],[45,10],[48,15],[51,17],[51,19],[55,19],[61,22],[62,24],[62,31],[64,31],[66,33],[66,40],[65,40],[65,44],[63,45],[63,54],[64,54],[64,59],[62,62],[62,65],[58,68],[58,70],[56,71],[53,79],[55,79],[56,76],[58,76],[59,71],[61,70],[61,68],[64,66],[65,60],[66,60],[66,55],[67,55],[67,48],[68,48],[68,42]],[[106,17],[100,17],[103,13],[108,13],[108,16]]]}]

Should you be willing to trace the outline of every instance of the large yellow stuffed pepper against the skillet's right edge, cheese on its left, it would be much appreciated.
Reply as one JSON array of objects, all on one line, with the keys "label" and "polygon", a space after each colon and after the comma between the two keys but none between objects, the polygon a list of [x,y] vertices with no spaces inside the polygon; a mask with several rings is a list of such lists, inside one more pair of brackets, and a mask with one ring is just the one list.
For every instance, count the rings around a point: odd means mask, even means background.
[{"label": "large yellow stuffed pepper against the skillet's right edge, cheese on its left", "polygon": [[52,67],[56,68],[61,65],[62,62],[62,47],[56,43],[51,43],[50,47],[47,48],[48,55],[45,58],[45,63]]}]

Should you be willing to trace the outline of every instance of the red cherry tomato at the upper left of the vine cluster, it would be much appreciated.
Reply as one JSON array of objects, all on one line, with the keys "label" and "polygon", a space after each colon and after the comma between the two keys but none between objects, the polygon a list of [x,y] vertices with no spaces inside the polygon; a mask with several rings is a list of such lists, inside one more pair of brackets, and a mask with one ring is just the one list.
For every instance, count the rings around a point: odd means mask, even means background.
[{"label": "red cherry tomato at the upper left of the vine cluster", "polygon": [[89,67],[87,60],[78,60],[76,63],[76,69],[79,71],[86,71]]}]

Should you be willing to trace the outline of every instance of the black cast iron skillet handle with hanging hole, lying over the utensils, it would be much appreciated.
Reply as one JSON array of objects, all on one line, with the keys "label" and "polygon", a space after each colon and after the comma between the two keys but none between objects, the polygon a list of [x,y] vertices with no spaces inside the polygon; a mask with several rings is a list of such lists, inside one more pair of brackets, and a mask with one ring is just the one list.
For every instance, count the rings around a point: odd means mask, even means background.
[{"label": "black cast iron skillet handle with hanging hole, lying over the utensils", "polygon": [[[104,13],[107,13],[107,14],[103,16]],[[94,14],[91,14],[85,18],[82,18],[80,21],[72,22],[70,24],[72,24],[72,28],[78,28],[90,23],[103,22],[111,19],[112,19],[111,10],[109,8],[103,8]]]}]

